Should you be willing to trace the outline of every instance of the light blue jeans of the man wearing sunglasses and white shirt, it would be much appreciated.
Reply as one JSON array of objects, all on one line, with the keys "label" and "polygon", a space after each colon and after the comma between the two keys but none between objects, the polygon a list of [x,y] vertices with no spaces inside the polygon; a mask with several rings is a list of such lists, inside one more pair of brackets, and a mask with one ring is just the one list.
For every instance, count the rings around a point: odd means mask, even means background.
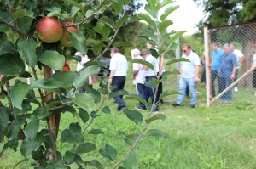
[{"label": "light blue jeans of the man wearing sunglasses and white shirt", "polygon": [[196,93],[196,82],[194,78],[183,78],[181,77],[179,79],[179,92],[183,95],[177,96],[177,104],[183,104],[184,95],[186,92],[187,87],[189,87],[189,90],[191,92],[191,103],[195,105],[197,100],[197,93]]}]

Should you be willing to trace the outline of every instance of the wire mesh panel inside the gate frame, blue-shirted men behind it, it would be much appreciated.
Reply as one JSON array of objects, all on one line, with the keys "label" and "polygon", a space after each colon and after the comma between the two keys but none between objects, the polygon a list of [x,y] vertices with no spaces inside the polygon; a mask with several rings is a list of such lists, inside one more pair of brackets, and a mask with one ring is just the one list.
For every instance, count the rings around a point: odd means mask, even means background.
[{"label": "wire mesh panel inside the gate frame, blue-shirted men behind it", "polygon": [[[256,53],[253,50],[256,43],[256,23],[211,28],[208,37],[212,104],[256,104],[252,69],[253,54]],[[234,67],[236,73],[232,76]]]}]

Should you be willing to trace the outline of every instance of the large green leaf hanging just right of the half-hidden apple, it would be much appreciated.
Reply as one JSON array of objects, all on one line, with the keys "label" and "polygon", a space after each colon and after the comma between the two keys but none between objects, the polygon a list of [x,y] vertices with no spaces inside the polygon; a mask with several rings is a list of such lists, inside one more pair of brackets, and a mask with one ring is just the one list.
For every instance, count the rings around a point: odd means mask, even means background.
[{"label": "large green leaf hanging just right of the half-hidden apple", "polygon": [[82,30],[71,32],[68,34],[71,41],[73,42],[73,47],[76,48],[82,54],[87,54],[88,48],[85,43],[85,37]]}]

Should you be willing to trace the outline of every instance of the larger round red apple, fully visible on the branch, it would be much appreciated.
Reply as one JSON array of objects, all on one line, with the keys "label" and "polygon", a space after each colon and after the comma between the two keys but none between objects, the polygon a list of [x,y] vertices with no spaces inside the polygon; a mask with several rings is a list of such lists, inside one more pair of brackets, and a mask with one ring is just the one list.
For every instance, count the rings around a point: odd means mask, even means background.
[{"label": "larger round red apple, fully visible on the branch", "polygon": [[38,21],[37,32],[41,41],[53,43],[61,39],[63,28],[59,20],[54,17],[44,17]]}]

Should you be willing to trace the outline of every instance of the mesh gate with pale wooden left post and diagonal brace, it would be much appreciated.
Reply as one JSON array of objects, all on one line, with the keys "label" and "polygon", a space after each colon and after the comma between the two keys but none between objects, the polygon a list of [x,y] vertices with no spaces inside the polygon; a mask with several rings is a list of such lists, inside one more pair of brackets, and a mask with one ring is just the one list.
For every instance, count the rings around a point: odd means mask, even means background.
[{"label": "mesh gate with pale wooden left post and diagonal brace", "polygon": [[[213,44],[219,45],[223,50],[225,43],[232,44],[235,48],[237,62],[240,63],[236,69],[235,80],[230,79],[230,65],[234,60],[221,56],[220,71],[216,75],[216,67],[207,66],[207,102],[210,104],[256,104],[256,88],[253,88],[253,48],[256,44],[256,23],[243,25],[230,25],[205,29],[205,47],[207,60],[211,63]],[[239,52],[240,51],[240,52]],[[215,61],[215,60],[214,60]],[[218,68],[219,70],[219,68]],[[216,79],[213,81],[214,77]],[[214,95],[214,90],[215,95]]]}]

